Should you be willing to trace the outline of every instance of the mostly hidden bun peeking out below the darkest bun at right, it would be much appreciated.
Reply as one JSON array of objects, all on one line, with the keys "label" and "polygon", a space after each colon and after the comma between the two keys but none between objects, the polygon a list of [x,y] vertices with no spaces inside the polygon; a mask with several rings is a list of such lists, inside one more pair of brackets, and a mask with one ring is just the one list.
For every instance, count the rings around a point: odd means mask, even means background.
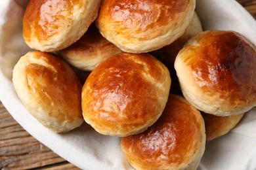
[{"label": "mostly hidden bun peeking out below the darkest bun at right", "polygon": [[215,116],[202,112],[202,116],[205,122],[206,140],[211,141],[233,129],[240,122],[244,113],[234,116]]}]

